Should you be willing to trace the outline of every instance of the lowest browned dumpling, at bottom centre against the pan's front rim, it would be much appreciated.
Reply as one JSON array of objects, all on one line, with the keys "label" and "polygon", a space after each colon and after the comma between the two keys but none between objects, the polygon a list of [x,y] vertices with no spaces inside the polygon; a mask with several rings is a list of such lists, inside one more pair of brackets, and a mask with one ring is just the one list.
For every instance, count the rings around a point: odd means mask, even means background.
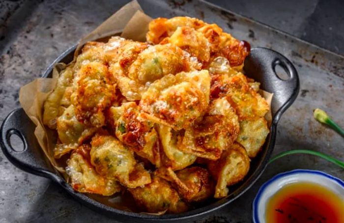
[{"label": "lowest browned dumpling, at bottom centre against the pan's front rim", "polygon": [[137,204],[149,213],[180,213],[188,209],[178,193],[164,179],[153,176],[150,184],[129,189]]}]

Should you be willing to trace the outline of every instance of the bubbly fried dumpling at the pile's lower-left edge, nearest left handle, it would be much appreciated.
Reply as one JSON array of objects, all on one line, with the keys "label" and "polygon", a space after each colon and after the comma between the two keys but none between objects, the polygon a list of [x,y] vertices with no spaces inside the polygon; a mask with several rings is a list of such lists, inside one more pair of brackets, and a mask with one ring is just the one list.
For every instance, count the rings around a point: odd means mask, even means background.
[{"label": "bubbly fried dumpling at the pile's lower-left edge, nearest left handle", "polygon": [[77,152],[73,152],[67,161],[66,172],[72,188],[78,192],[110,196],[121,191],[117,181],[98,174],[89,161]]}]

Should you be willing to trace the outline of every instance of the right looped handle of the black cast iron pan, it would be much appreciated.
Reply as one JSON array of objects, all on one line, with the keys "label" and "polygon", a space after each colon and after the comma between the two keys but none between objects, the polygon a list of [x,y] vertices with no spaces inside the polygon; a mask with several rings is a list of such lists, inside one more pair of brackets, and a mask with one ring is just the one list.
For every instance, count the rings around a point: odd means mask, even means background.
[{"label": "right looped handle of the black cast iron pan", "polygon": [[[277,75],[277,66],[281,66],[287,73],[287,80]],[[253,48],[246,57],[244,71],[248,77],[261,84],[261,89],[274,94],[271,112],[273,124],[277,124],[299,93],[300,82],[294,65],[282,54],[258,47]]]}]

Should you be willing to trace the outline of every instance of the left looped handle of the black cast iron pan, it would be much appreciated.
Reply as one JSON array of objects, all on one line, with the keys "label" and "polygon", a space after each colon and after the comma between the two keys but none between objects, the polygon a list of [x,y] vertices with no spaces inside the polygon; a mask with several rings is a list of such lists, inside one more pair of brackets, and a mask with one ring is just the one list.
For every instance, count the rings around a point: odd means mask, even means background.
[{"label": "left looped handle of the black cast iron pan", "polygon": [[[35,174],[61,181],[53,168],[49,168],[43,151],[34,135],[36,126],[29,119],[23,109],[9,113],[0,129],[0,146],[7,159],[16,167]],[[19,150],[11,145],[11,137],[17,135],[22,140],[24,148]]]}]

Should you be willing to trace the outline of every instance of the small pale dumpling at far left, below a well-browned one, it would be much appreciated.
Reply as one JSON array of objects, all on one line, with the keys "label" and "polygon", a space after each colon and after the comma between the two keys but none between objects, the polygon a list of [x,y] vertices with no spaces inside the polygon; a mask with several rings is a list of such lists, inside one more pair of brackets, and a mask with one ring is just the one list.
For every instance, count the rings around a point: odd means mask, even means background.
[{"label": "small pale dumpling at far left, below a well-browned one", "polygon": [[66,145],[80,145],[85,139],[91,137],[95,131],[96,128],[87,127],[85,124],[78,121],[73,105],[69,106],[63,114],[57,118],[58,139]]}]

